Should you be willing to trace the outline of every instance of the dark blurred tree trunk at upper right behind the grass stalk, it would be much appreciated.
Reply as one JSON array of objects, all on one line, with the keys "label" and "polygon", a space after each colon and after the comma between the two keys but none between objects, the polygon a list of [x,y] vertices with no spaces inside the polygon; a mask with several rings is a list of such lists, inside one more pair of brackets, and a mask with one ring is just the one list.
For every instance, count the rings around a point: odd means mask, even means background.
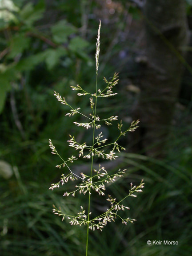
[{"label": "dark blurred tree trunk at upper right behind the grass stalk", "polygon": [[[162,154],[180,89],[188,42],[184,0],[147,0],[146,57],[136,117],[141,146],[147,155]],[[137,135],[139,135],[137,133]]]}]

